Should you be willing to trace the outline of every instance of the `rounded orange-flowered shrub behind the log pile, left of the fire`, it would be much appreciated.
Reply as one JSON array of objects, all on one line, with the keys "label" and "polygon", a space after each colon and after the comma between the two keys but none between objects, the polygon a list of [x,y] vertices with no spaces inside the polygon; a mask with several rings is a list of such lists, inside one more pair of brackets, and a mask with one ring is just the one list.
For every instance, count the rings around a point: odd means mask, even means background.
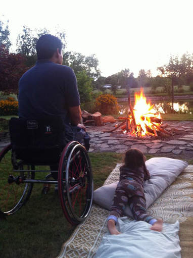
[{"label": "rounded orange-flowered shrub behind the log pile, left of the fire", "polygon": [[112,94],[101,94],[96,98],[95,105],[102,114],[118,114],[119,111],[117,98]]}]

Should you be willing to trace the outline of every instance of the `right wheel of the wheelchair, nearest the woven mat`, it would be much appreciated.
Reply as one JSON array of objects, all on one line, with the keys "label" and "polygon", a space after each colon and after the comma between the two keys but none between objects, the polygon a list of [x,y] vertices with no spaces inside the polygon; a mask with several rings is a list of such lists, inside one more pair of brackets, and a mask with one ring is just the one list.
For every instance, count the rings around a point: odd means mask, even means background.
[{"label": "right wheel of the wheelchair, nearest the woven mat", "polygon": [[58,187],[67,220],[72,225],[84,221],[92,205],[93,177],[87,151],[76,141],[69,142],[62,152]]}]

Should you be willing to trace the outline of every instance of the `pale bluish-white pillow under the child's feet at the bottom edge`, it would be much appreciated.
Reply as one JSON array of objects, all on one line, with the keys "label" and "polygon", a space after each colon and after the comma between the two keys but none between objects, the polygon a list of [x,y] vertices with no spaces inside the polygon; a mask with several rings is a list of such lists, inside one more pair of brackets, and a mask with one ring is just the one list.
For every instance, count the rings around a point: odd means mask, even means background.
[{"label": "pale bluish-white pillow under the child's feet at the bottom edge", "polygon": [[163,224],[162,232],[156,232],[144,221],[118,220],[118,230],[122,234],[108,232],[94,258],[181,258],[178,221]]}]

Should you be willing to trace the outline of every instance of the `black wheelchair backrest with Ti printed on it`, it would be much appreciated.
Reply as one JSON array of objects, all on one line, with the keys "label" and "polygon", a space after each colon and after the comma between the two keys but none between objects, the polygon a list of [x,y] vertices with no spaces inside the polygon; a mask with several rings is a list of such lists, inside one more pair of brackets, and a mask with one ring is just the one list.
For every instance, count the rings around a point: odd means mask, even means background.
[{"label": "black wheelchair backrest with Ti printed on it", "polygon": [[65,146],[64,124],[60,116],[11,118],[9,129],[15,150],[33,151]]}]

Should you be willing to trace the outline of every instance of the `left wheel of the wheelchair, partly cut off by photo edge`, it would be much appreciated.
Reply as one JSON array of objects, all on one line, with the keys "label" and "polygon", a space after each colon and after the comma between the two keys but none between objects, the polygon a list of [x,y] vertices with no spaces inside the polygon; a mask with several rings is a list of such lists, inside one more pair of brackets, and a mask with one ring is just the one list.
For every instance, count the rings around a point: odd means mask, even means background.
[{"label": "left wheel of the wheelchair, partly cut off by photo edge", "polygon": [[22,178],[34,179],[34,172],[13,171],[12,148],[8,145],[0,153],[0,215],[2,217],[14,214],[29,199],[33,184],[22,183]]}]

